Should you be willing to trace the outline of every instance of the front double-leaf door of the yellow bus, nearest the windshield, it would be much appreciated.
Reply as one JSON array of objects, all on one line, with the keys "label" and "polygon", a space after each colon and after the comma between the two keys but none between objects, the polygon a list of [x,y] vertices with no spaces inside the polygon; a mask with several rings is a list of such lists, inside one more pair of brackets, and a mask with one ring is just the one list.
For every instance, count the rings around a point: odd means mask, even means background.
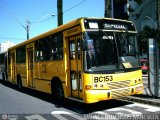
[{"label": "front double-leaf door of the yellow bus, nearest the windshield", "polygon": [[71,96],[82,98],[81,35],[69,38]]}]

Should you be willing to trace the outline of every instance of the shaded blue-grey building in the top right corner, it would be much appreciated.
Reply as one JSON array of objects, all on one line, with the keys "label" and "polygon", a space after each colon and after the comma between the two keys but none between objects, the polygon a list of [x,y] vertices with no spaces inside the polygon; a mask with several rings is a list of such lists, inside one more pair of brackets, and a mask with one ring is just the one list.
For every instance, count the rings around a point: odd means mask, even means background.
[{"label": "shaded blue-grey building in the top right corner", "polygon": [[[134,0],[129,0],[130,6],[134,10],[130,13],[132,20],[138,31],[142,31],[145,26],[153,29],[159,28],[160,22],[160,1],[159,0],[141,0],[141,4],[136,4]],[[133,7],[134,6],[134,7]]]}]

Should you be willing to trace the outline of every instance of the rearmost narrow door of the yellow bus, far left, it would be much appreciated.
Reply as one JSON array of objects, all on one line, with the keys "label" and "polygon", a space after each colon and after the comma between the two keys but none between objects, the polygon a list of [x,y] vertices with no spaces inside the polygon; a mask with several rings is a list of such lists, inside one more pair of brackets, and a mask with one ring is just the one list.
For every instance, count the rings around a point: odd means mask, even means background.
[{"label": "rearmost narrow door of the yellow bus, far left", "polygon": [[16,52],[13,51],[10,54],[11,58],[11,80],[12,83],[15,83],[16,79]]}]

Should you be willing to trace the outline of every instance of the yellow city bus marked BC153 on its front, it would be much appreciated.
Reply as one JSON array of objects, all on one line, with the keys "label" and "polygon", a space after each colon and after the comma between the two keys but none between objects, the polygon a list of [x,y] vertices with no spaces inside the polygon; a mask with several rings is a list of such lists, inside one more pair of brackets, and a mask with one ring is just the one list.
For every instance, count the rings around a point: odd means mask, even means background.
[{"label": "yellow city bus marked BC153 on its front", "polygon": [[142,94],[136,28],[78,18],[8,49],[8,81],[84,103]]}]

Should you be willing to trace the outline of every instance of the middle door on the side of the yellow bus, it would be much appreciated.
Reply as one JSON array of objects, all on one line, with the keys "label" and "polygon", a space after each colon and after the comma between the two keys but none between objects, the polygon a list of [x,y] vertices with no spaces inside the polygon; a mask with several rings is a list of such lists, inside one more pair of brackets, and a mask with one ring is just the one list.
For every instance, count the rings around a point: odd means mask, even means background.
[{"label": "middle door on the side of the yellow bus", "polygon": [[33,47],[27,47],[27,83],[28,87],[34,87],[33,80]]}]

